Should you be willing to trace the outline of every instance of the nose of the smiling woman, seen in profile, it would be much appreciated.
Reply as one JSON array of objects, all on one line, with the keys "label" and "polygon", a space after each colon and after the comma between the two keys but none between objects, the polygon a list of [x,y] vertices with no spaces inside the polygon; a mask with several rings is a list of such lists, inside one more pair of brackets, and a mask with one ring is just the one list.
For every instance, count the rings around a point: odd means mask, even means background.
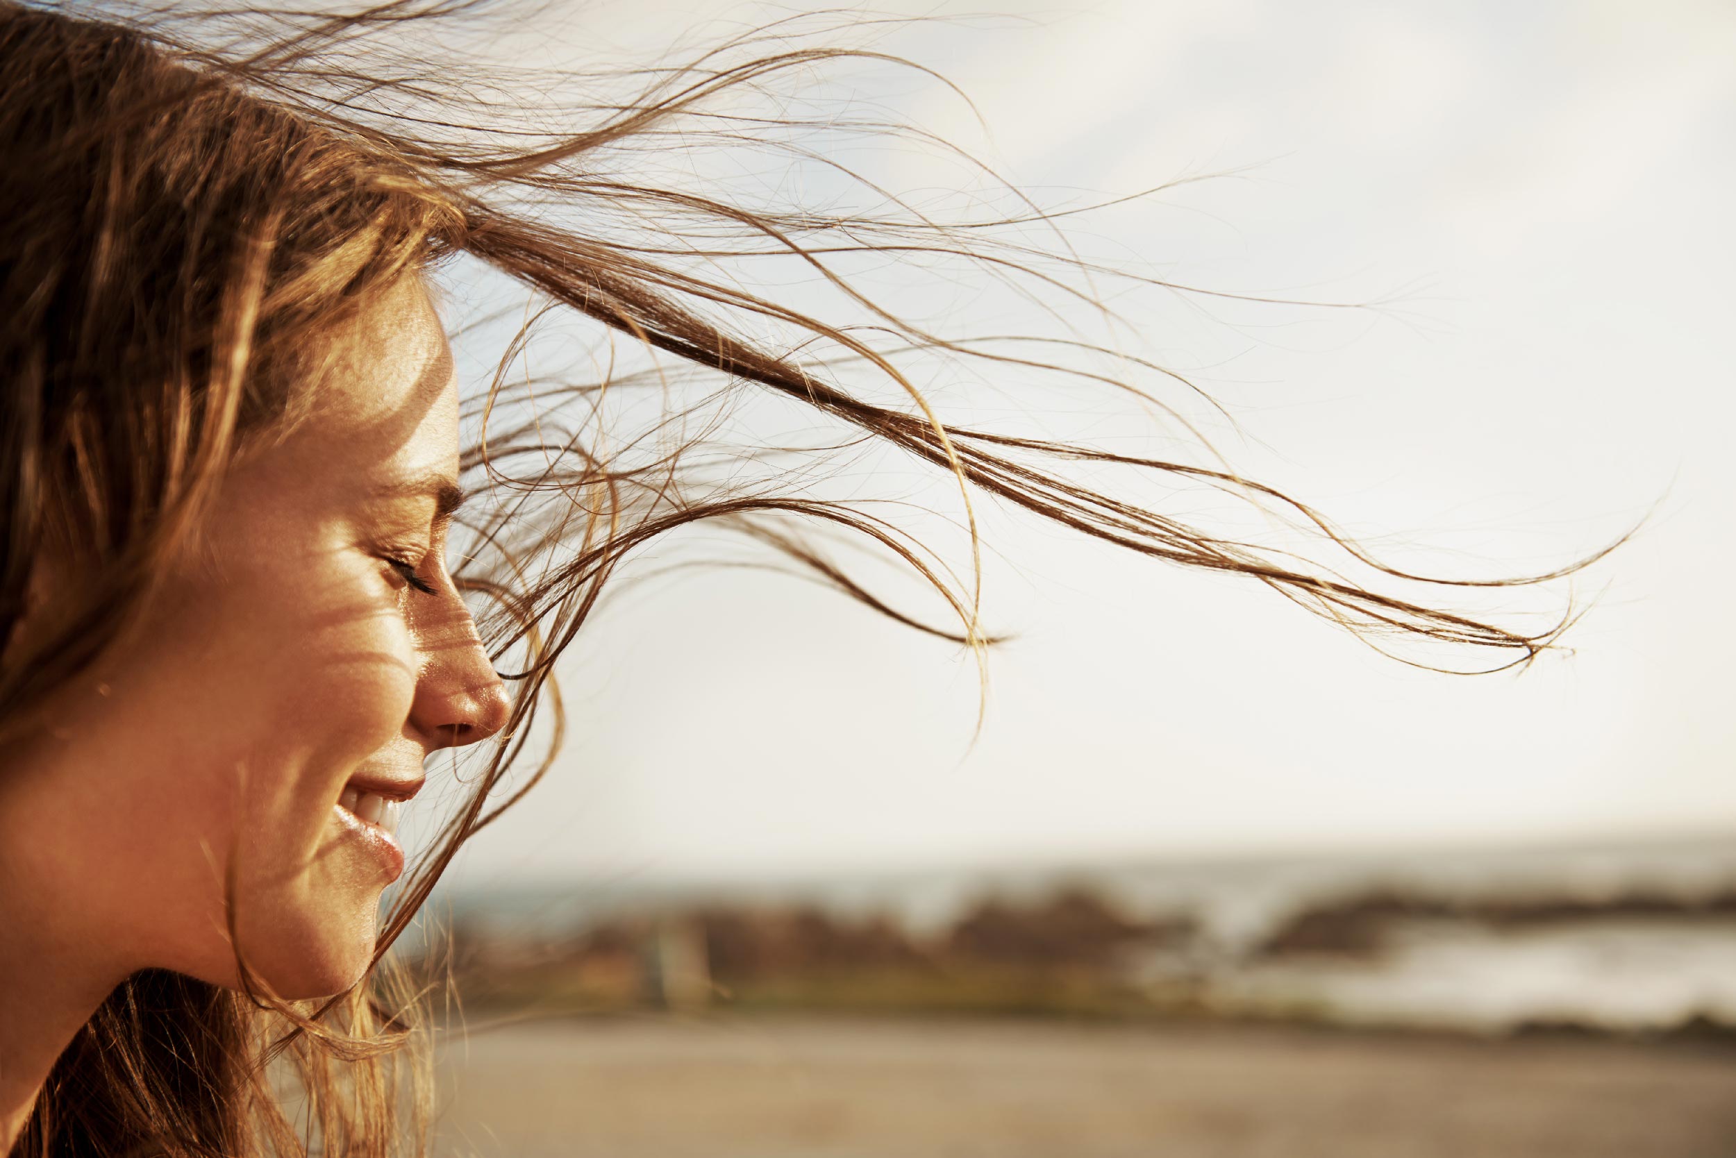
[{"label": "nose of the smiling woman, seen in profile", "polygon": [[464,602],[451,599],[436,622],[417,628],[422,668],[410,724],[427,750],[488,740],[505,727],[512,701]]}]

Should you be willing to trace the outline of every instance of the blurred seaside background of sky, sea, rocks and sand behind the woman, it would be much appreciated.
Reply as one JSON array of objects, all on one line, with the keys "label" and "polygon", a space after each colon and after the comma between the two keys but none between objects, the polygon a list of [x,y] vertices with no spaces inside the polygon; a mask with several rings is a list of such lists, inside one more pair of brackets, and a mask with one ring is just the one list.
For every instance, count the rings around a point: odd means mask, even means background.
[{"label": "blurred seaside background of sky, sea, rocks and sand behind the woman", "polygon": [[[806,16],[531,10],[495,50],[651,61]],[[979,734],[969,655],[819,587],[632,587],[566,658],[559,764],[431,906],[458,995],[441,1144],[1736,1155],[1736,9],[891,14],[939,19],[866,42],[976,111],[871,68],[832,82],[852,109],[1050,207],[1184,182],[1069,224],[1087,253],[1378,304],[1130,311],[1234,415],[1212,432],[1238,469],[1465,575],[1644,524],[1578,580],[1571,651],[1463,677],[991,512],[986,620],[1016,639]],[[898,151],[873,174],[948,181]],[[1023,325],[965,293],[936,309]],[[1154,438],[1102,399],[937,398]]]}]

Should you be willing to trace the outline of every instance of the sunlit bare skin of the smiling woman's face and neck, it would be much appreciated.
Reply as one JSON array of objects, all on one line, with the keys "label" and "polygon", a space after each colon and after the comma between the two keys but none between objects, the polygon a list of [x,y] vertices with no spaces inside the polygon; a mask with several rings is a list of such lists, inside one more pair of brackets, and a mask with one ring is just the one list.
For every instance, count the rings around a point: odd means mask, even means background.
[{"label": "sunlit bare skin of the smiling woman's face and neck", "polygon": [[425,755],[507,719],[444,569],[444,332],[406,281],[349,339],[314,413],[224,481],[139,637],[7,753],[0,1151],[130,972],[236,984],[226,868],[240,948],[278,995],[349,988],[396,872],[339,809],[345,785],[413,785]]}]

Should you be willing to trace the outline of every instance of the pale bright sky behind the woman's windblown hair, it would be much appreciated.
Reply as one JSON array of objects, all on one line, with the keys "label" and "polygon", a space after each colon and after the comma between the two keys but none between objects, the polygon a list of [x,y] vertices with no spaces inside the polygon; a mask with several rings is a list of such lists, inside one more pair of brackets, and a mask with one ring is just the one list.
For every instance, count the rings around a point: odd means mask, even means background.
[{"label": "pale bright sky behind the woman's windblown hair", "polygon": [[[755,12],[635,7],[589,5],[568,36]],[[1663,495],[1588,583],[1576,653],[1430,675],[1255,585],[1012,528],[988,613],[1021,639],[967,753],[955,648],[804,583],[693,576],[587,628],[561,767],[465,878],[1736,839],[1736,9],[995,7],[1023,19],[891,47],[977,101],[1014,179],[1071,198],[1245,170],[1094,231],[1231,290],[1413,290],[1382,318],[1158,339],[1236,406],[1240,467],[1493,571],[1592,549]],[[941,92],[906,108],[981,141]]]}]

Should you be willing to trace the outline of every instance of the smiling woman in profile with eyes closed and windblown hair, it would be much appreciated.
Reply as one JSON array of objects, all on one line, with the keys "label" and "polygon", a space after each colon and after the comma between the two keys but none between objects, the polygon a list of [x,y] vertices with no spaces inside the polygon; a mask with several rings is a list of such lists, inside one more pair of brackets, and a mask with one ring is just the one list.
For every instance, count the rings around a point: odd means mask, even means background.
[{"label": "smiling woman in profile with eyes closed and windblown hair", "polygon": [[[660,134],[722,118],[727,139],[753,123],[719,113],[724,95],[842,54],[729,45],[734,57],[654,75],[583,130],[500,122],[464,83],[437,97],[441,116],[415,116],[406,109],[439,85],[427,69],[394,71],[387,45],[411,17],[450,16],[443,7],[279,14],[288,23],[269,35],[229,28],[214,49],[219,24],[158,12],[122,26],[0,0],[10,1155],[420,1153],[417,1005],[385,951],[457,845],[547,767],[557,714],[554,727],[533,724],[554,694],[552,663],[648,538],[722,523],[920,627],[792,521],[861,533],[957,615],[957,628],[924,630],[977,653],[990,642],[974,587],[948,582],[885,523],[811,495],[701,486],[675,455],[628,464],[557,434],[547,396],[542,410],[535,391],[507,401],[505,375],[469,413],[476,438],[462,446],[431,293],[455,255],[701,378],[811,406],[951,474],[967,512],[972,495],[993,495],[1160,559],[1246,575],[1371,635],[1491,649],[1496,667],[1554,637],[1559,623],[1516,632],[1384,594],[1059,467],[1095,460],[1215,486],[1300,516],[1370,575],[1418,580],[1227,470],[946,425],[913,385],[911,352],[1137,389],[1095,372],[1083,344],[1033,352],[930,333],[833,260],[951,253],[1076,293],[1028,248],[996,241],[996,222],[773,212],[623,175],[621,156]],[[762,125],[767,139],[785,127]],[[556,210],[575,205],[594,229],[562,224]],[[707,273],[766,253],[802,260],[871,330]],[[771,337],[746,337],[750,323]],[[903,401],[849,389],[863,366]],[[656,370],[660,387],[677,377],[667,361]],[[604,384],[568,398],[601,405]],[[450,568],[455,526],[470,535]],[[465,594],[484,601],[481,622]],[[528,778],[502,790],[533,738],[545,743]],[[377,920],[404,873],[396,821],[424,760],[469,750],[484,767]]]}]

